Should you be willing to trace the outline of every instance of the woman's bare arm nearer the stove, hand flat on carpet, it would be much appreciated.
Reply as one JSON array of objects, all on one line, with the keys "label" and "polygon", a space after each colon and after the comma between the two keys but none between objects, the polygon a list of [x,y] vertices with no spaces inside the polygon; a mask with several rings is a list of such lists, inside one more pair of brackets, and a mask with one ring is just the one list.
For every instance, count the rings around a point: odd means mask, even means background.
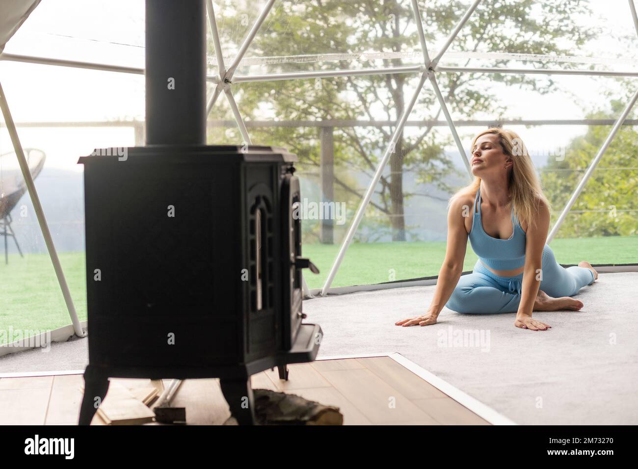
[{"label": "woman's bare arm nearer the stove, hand flat on carpet", "polygon": [[450,299],[456,284],[463,272],[463,261],[468,246],[468,232],[465,229],[465,217],[472,215],[472,207],[463,202],[462,197],[456,197],[450,202],[447,213],[447,244],[445,246],[445,260],[436,281],[434,297],[424,315],[404,319],[396,325],[430,325],[436,324],[441,309]]}]

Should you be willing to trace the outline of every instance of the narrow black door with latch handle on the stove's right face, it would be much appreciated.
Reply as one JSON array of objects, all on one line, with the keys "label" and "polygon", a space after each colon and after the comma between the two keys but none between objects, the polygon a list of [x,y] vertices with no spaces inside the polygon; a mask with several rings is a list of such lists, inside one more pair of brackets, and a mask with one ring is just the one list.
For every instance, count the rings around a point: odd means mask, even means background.
[{"label": "narrow black door with latch handle on the stove's right face", "polygon": [[282,177],[283,350],[290,350],[302,320],[301,268],[297,266],[301,257],[300,190],[297,176],[286,172]]}]

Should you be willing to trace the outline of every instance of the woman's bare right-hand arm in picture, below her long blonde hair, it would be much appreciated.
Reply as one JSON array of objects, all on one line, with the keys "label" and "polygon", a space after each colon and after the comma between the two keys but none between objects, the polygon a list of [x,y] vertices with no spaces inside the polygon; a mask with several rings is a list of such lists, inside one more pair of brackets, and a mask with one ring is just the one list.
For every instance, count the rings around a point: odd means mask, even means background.
[{"label": "woman's bare right-hand arm in picture, below her long blonde hair", "polygon": [[528,222],[525,244],[525,267],[523,285],[521,285],[521,302],[516,313],[514,325],[521,329],[539,329],[545,331],[547,324],[533,320],[531,311],[534,308],[538,288],[542,279],[542,258],[547,232],[549,231],[549,209],[540,203],[535,216],[536,223]]}]

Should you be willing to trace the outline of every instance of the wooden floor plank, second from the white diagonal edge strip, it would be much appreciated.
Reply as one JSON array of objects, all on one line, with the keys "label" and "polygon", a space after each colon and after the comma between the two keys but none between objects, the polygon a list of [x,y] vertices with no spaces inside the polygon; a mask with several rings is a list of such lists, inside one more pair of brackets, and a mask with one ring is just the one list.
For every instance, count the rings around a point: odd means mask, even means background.
[{"label": "wooden floor plank, second from the white diagonal edge strip", "polygon": [[322,376],[373,424],[417,420],[437,423],[369,369],[323,371]]}]

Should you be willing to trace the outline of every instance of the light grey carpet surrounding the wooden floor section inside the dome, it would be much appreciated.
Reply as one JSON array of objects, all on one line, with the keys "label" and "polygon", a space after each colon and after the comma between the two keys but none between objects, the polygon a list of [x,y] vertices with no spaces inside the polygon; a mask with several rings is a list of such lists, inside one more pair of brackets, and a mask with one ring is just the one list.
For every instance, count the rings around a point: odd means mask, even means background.
[{"label": "light grey carpet surrounding the wooden floor section inside the dome", "polygon": [[[434,286],[318,297],[304,301],[304,312],[322,326],[319,357],[400,352],[519,424],[635,425],[637,286],[638,272],[600,274],[576,295],[581,311],[535,312],[553,327],[538,332],[514,327],[514,313],[447,308],[436,325],[395,326],[425,311]],[[455,344],[457,331],[482,333],[484,343]],[[48,353],[0,357],[0,373],[83,369],[87,362],[87,339],[75,339]]]}]

